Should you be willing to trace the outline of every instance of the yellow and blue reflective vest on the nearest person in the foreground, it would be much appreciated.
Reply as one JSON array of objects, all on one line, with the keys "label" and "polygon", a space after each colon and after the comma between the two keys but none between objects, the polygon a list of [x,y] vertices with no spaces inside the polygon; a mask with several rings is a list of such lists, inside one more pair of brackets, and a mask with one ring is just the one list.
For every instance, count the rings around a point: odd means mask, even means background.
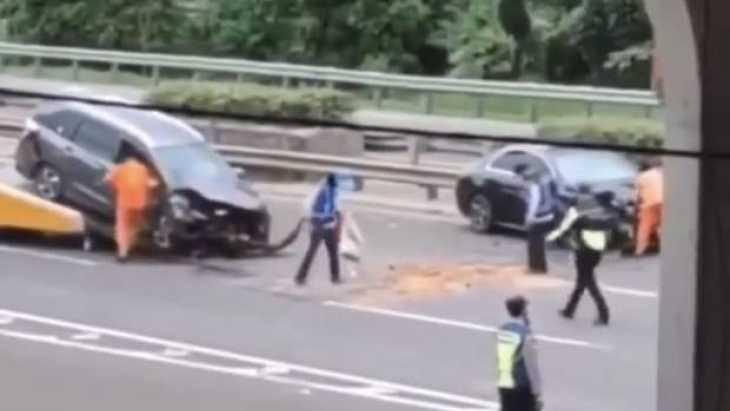
[{"label": "yellow and blue reflective vest on the nearest person in the foreground", "polygon": [[497,387],[530,388],[522,349],[530,329],[519,322],[503,325],[497,333]]}]

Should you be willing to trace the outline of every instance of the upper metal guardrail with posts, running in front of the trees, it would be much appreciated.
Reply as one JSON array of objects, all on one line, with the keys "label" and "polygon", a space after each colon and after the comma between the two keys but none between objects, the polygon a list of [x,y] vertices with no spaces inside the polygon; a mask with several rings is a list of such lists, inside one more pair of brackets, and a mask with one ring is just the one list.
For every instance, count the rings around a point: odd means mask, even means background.
[{"label": "upper metal guardrail with posts, running in front of the trees", "polygon": [[286,87],[291,80],[314,81],[335,87],[337,85],[359,85],[371,90],[371,98],[377,107],[382,107],[386,90],[410,90],[423,96],[423,111],[434,112],[434,96],[439,93],[456,93],[474,99],[474,115],[482,117],[485,101],[490,96],[526,99],[530,102],[531,120],[540,117],[540,101],[572,101],[585,106],[586,115],[592,116],[596,104],[627,105],[644,108],[651,116],[660,103],[656,94],[645,90],[622,90],[598,87],[573,87],[562,85],[518,83],[504,81],[463,80],[453,78],[386,74],[380,72],[345,70],[333,67],[305,66],[287,63],[257,62],[243,59],[208,58],[155,53],[120,52],[110,50],[83,49],[71,47],[48,47],[0,42],[0,71],[3,62],[12,57],[32,58],[34,73],[40,74],[44,60],[70,61],[72,79],[79,79],[81,63],[104,63],[110,66],[110,75],[118,73],[120,66],[149,67],[152,69],[150,82],[158,84],[161,69],[187,70],[193,73],[193,80],[201,72],[235,74],[239,79],[256,75],[279,79]]}]

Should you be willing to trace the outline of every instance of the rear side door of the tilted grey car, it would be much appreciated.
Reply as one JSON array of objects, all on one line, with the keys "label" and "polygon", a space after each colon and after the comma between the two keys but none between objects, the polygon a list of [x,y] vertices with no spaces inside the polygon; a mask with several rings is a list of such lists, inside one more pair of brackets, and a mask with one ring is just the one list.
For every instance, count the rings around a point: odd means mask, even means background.
[{"label": "rear side door of the tilted grey car", "polygon": [[85,118],[73,137],[69,157],[70,189],[73,198],[89,211],[114,215],[112,190],[104,177],[111,171],[121,145],[121,132],[94,118]]}]

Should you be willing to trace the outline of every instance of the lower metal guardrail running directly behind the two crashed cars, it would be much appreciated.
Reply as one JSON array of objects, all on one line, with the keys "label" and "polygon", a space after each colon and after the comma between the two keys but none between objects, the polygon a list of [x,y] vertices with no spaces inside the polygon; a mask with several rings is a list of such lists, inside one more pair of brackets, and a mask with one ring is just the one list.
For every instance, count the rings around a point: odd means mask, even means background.
[{"label": "lower metal guardrail running directly behind the two crashed cars", "polygon": [[[18,120],[0,119],[0,129],[22,130]],[[231,165],[327,173],[346,170],[363,180],[380,180],[414,184],[426,189],[429,200],[438,196],[439,188],[453,188],[460,176],[458,170],[398,164],[368,159],[346,158],[331,155],[300,153],[287,150],[270,150],[253,147],[213,145]]]}]

